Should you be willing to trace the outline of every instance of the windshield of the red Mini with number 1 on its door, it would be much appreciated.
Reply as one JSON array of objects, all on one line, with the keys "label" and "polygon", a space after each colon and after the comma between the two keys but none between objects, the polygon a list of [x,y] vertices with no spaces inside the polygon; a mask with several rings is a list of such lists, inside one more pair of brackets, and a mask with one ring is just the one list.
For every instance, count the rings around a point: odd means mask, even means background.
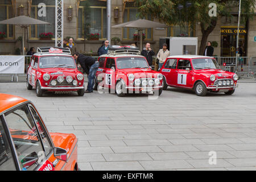
[{"label": "windshield of the red Mini with number 1 on its door", "polygon": [[220,69],[216,60],[209,58],[193,59],[192,64],[194,69]]}]

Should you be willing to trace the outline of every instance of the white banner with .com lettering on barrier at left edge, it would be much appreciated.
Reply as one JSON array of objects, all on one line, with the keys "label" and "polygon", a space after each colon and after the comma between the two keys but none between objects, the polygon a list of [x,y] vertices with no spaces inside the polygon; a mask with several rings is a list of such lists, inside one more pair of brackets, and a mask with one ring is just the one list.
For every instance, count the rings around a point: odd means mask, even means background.
[{"label": "white banner with .com lettering on barrier at left edge", "polygon": [[24,74],[25,56],[0,56],[0,74]]}]

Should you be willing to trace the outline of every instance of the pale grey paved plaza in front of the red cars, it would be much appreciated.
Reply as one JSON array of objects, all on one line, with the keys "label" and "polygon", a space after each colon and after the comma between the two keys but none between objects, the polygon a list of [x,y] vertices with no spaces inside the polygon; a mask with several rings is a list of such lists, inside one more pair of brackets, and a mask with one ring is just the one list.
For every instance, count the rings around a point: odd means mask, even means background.
[{"label": "pale grey paved plaza in front of the red cars", "polygon": [[239,82],[232,96],[168,88],[156,100],[36,97],[25,82],[0,83],[0,92],[34,102],[49,131],[75,134],[81,170],[256,170],[256,82]]}]

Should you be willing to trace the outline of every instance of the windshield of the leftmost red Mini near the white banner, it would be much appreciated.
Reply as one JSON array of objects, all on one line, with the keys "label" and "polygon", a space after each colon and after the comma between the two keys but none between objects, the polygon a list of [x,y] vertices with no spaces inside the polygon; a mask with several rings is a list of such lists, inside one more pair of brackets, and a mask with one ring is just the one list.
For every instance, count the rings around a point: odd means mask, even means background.
[{"label": "windshield of the leftmost red Mini near the white banner", "polygon": [[39,68],[76,68],[75,61],[68,56],[41,57]]}]

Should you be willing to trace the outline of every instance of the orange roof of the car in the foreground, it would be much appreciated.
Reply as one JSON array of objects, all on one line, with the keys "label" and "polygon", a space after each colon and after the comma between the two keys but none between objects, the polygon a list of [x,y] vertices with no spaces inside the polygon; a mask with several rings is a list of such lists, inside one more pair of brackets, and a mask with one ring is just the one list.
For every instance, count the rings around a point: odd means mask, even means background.
[{"label": "orange roof of the car in the foreground", "polygon": [[0,113],[27,100],[10,94],[0,93]]}]

